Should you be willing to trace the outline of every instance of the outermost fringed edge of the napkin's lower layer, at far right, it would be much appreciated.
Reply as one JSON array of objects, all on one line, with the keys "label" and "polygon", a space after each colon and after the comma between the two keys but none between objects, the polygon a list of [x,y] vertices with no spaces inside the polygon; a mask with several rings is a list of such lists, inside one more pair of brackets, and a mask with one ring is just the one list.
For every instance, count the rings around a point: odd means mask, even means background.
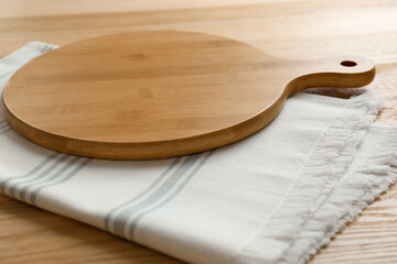
[{"label": "outermost fringed edge of the napkin's lower layer, at far right", "polygon": [[357,219],[367,206],[397,182],[397,128],[384,129],[388,131],[386,139],[305,223],[300,238],[285,252],[281,263],[309,261],[346,223]]}]

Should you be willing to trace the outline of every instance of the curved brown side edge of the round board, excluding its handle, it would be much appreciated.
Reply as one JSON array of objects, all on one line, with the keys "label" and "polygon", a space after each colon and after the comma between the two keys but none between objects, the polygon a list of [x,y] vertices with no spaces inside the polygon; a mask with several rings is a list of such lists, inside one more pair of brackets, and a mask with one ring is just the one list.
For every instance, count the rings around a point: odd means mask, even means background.
[{"label": "curved brown side edge of the round board, excluding its handle", "polygon": [[282,95],[267,109],[230,128],[192,138],[149,143],[109,143],[65,138],[39,130],[13,116],[4,102],[4,97],[2,105],[6,119],[11,128],[37,145],[77,156],[138,161],[182,156],[210,151],[239,141],[270,123],[281,111],[287,95],[288,92],[285,89]]}]

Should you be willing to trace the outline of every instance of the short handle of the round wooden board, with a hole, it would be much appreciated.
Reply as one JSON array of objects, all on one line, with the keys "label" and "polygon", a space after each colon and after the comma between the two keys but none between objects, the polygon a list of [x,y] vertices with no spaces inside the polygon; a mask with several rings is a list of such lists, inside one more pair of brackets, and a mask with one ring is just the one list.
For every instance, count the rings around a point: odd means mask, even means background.
[{"label": "short handle of the round wooden board, with a hole", "polygon": [[296,77],[287,85],[289,95],[312,87],[366,86],[373,81],[376,72],[373,62],[352,55],[300,61],[293,65]]}]

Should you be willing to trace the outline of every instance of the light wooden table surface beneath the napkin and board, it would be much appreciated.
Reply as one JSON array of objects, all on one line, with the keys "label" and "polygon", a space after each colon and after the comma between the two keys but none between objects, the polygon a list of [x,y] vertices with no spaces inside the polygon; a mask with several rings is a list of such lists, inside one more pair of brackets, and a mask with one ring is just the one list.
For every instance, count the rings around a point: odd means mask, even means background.
[{"label": "light wooden table surface beneath the napkin and board", "polygon": [[[64,45],[141,30],[184,30],[247,42],[281,57],[360,54],[377,65],[378,122],[397,124],[394,0],[1,0],[0,57],[29,41]],[[348,97],[361,90],[322,89]],[[179,263],[74,220],[0,196],[0,263]],[[397,187],[311,263],[397,263]]]}]

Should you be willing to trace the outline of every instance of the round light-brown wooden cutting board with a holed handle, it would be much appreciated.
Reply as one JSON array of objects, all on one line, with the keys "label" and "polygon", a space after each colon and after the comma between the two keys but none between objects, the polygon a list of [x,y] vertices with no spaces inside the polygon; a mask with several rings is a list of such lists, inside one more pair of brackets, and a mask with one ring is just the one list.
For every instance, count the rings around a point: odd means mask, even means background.
[{"label": "round light-brown wooden cutting board with a holed handle", "polygon": [[223,146],[264,128],[309,87],[360,87],[375,75],[360,56],[289,61],[208,34],[106,35],[49,52],[3,91],[11,127],[75,155],[147,160]]}]

